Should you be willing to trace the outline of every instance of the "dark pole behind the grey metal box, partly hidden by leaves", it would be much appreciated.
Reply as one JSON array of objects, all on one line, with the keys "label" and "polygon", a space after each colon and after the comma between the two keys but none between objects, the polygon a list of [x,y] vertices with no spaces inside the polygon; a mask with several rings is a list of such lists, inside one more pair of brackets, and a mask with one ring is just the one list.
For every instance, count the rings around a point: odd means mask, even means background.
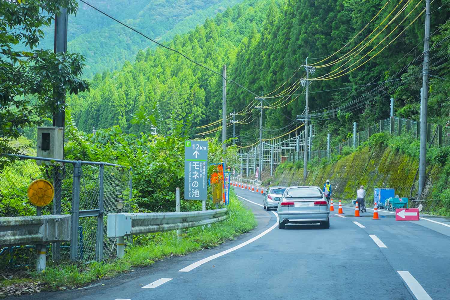
[{"label": "dark pole behind the grey metal box, partly hidden by leaves", "polygon": [[[54,53],[67,52],[67,9],[60,9],[59,13],[55,15],[55,31],[54,31]],[[53,114],[53,126],[63,127],[66,120],[66,108],[65,97],[60,99],[54,99],[55,103],[60,105],[58,112]],[[63,130],[64,137],[64,130]],[[64,143],[63,143],[63,158],[64,158]],[[62,181],[61,172],[58,169],[61,166],[57,166],[54,169],[53,185],[54,185],[54,201],[53,201],[53,214],[61,214],[61,195],[62,195]],[[61,243],[52,244],[52,258],[53,260],[59,260],[61,258]]]}]

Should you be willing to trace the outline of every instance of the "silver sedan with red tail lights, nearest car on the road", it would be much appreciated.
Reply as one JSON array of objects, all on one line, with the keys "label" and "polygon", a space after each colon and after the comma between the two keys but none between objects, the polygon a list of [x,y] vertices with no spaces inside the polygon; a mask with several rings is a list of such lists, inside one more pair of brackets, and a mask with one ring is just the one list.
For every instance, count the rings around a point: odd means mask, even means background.
[{"label": "silver sedan with red tail lights, nearest car on the road", "polygon": [[278,203],[278,228],[285,224],[315,224],[330,228],[330,208],[319,187],[288,187]]}]

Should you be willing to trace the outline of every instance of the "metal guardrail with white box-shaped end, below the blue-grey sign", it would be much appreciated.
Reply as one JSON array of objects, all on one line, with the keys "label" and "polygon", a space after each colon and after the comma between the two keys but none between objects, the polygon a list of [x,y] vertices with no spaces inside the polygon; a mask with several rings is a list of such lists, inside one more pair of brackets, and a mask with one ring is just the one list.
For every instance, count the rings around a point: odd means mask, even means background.
[{"label": "metal guardrail with white box-shaped end, below the blue-grey sign", "polygon": [[226,209],[166,212],[108,214],[107,237],[117,238],[117,257],[125,254],[125,236],[155,233],[196,227],[225,220]]}]

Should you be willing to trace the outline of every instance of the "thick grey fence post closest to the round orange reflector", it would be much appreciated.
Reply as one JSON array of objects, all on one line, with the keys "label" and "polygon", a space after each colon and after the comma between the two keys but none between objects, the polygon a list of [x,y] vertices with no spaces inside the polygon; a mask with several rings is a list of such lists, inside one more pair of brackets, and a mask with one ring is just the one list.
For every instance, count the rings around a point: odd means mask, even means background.
[{"label": "thick grey fence post closest to the round orange reflector", "polygon": [[80,179],[81,161],[76,161],[73,168],[72,183],[72,220],[70,235],[70,259],[76,260],[78,256],[78,216],[80,213]]}]

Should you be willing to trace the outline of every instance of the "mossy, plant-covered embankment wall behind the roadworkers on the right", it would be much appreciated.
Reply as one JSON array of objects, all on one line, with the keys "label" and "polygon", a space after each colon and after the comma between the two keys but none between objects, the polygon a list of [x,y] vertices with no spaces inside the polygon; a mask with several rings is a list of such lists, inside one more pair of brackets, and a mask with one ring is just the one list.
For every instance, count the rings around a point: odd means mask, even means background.
[{"label": "mossy, plant-covered embankment wall behind the roadworkers on the right", "polygon": [[[439,215],[450,215],[450,149],[432,147],[427,153],[427,182],[424,190],[424,210]],[[333,199],[350,201],[356,198],[356,190],[364,185],[367,203],[373,203],[374,188],[395,188],[400,197],[412,197],[417,193],[419,168],[419,141],[407,136],[375,134],[357,149],[345,149],[342,155],[329,160],[312,161],[308,164],[306,184],[322,187],[327,179],[333,185]],[[285,162],[266,185],[303,184],[302,162]],[[410,201],[410,206],[419,202]]]}]

